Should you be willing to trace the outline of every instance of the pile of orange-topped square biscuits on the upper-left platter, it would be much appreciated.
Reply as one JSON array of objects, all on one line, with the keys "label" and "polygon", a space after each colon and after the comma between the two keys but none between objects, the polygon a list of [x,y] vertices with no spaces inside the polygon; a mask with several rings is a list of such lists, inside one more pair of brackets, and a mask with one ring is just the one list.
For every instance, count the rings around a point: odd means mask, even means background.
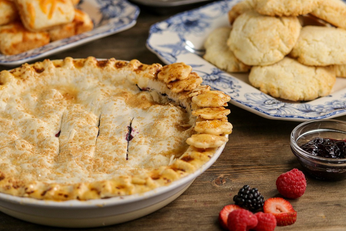
[{"label": "pile of orange-topped square biscuits on the upper-left platter", "polygon": [[93,29],[79,0],[0,0],[0,52],[19,54]]}]

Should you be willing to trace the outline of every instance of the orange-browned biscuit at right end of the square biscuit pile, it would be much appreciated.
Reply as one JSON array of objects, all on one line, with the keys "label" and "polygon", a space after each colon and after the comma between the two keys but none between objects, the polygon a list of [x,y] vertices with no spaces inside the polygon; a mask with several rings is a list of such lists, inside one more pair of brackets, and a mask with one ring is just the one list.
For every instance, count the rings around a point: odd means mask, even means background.
[{"label": "orange-browned biscuit at right end of the square biscuit pile", "polygon": [[87,32],[92,30],[93,27],[94,24],[89,15],[81,10],[75,9],[74,19],[71,23],[56,26],[53,29],[48,30],[48,33],[51,37],[51,41],[56,41]]}]

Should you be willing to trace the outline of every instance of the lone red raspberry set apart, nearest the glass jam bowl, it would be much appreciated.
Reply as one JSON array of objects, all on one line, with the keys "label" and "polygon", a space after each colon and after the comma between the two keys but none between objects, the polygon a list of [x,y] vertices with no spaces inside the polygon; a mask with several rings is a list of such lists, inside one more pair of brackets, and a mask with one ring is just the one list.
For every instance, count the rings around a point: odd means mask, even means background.
[{"label": "lone red raspberry set apart, nearest the glass jam bowl", "polygon": [[302,171],[294,168],[276,179],[276,188],[281,195],[295,199],[302,196],[306,189],[306,179]]}]

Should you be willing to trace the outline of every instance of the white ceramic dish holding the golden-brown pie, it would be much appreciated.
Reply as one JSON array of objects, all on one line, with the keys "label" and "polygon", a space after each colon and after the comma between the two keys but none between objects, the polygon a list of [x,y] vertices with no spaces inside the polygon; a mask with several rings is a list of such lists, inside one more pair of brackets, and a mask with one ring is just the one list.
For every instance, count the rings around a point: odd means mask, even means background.
[{"label": "white ceramic dish holding the golden-brown pie", "polygon": [[[226,135],[228,137],[228,135]],[[44,201],[0,193],[0,211],[21,220],[68,228],[89,228],[118,224],[152,213],[180,196],[193,180],[220,156],[225,144],[194,173],[142,194],[63,202]]]}]

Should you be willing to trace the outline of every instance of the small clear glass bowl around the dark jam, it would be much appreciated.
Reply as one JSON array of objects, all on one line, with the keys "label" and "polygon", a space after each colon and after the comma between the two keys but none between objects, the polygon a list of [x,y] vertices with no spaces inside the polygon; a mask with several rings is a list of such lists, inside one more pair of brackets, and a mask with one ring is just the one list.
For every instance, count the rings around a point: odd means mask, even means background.
[{"label": "small clear glass bowl around the dark jam", "polygon": [[316,119],[295,127],[291,133],[291,150],[310,175],[321,180],[346,178],[346,159],[314,156],[300,148],[316,137],[346,140],[346,122],[336,119]]}]

